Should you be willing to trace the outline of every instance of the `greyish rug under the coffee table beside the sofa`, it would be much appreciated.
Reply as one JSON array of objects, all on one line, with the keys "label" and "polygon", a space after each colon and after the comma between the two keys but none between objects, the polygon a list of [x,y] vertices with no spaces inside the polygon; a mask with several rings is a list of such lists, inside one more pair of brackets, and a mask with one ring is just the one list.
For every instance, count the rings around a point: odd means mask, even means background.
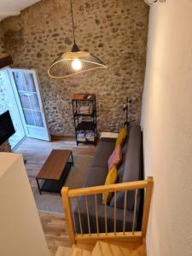
[{"label": "greyish rug under the coffee table beside the sofa", "polygon": [[[74,166],[71,167],[64,186],[67,186],[69,189],[79,189],[82,188],[93,157],[73,154],[73,160]],[[61,195],[46,192],[43,192],[42,195],[40,195],[38,192],[38,187],[33,189],[33,195],[38,207],[38,211],[63,213]]]}]

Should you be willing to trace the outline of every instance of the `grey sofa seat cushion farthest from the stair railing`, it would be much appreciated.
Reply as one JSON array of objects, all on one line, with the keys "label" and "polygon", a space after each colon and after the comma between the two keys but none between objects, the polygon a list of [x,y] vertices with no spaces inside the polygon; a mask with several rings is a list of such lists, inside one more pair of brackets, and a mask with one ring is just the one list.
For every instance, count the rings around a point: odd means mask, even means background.
[{"label": "grey sofa seat cushion farthest from the stair railing", "polygon": [[100,141],[96,147],[96,154],[91,166],[108,169],[108,158],[113,152],[114,144],[114,141]]}]

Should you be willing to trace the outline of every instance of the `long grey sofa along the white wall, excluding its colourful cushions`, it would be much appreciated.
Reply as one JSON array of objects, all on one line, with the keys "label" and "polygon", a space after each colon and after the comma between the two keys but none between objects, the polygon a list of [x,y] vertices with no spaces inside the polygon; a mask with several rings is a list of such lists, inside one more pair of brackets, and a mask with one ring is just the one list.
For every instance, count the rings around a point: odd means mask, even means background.
[{"label": "long grey sofa along the white wall, excluding its colourful cushions", "polygon": [[[115,145],[115,140],[102,138],[98,143],[96,148],[96,154],[87,177],[85,177],[84,188],[99,186],[105,183],[106,177],[108,175],[108,158],[113,153]],[[138,125],[132,125],[128,131],[128,137],[125,145],[122,148],[123,160],[118,168],[118,183],[131,182],[143,179],[143,151],[142,151],[142,132]],[[137,220],[135,230],[140,230],[141,228],[141,218],[143,212],[143,192],[139,190],[137,195]],[[123,214],[124,214],[124,192],[117,192],[117,213],[116,213],[116,230],[117,232],[122,232],[123,230]],[[125,230],[130,231],[132,229],[132,219],[134,210],[134,198],[135,192],[127,192],[127,203],[126,203],[126,221]],[[96,233],[96,206],[95,197],[89,195],[87,197],[88,208],[90,215],[90,232]],[[102,195],[97,195],[98,203],[98,223],[99,232],[105,232],[105,207],[102,204]],[[113,205],[114,199],[111,198],[108,203],[107,213],[108,213],[108,232],[113,232]],[[82,230],[83,233],[89,233],[87,225],[87,213],[85,207],[85,197],[79,198],[79,210],[81,216]],[[79,226],[79,211],[77,205],[73,207],[73,216],[76,232],[80,233]]]}]

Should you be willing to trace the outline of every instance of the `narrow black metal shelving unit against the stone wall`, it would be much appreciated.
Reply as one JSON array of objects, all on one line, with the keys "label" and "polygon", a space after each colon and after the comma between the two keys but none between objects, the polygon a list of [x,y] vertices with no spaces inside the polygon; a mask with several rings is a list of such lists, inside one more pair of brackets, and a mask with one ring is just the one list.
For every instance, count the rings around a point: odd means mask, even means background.
[{"label": "narrow black metal shelving unit against the stone wall", "polygon": [[[75,137],[77,145],[79,143],[94,144],[96,146],[96,95],[94,94],[76,94],[72,99],[73,103],[73,119],[75,127]],[[79,106],[92,106],[91,113],[79,113]],[[84,137],[79,138],[79,133],[84,134]],[[92,136],[86,137],[86,135]]]}]

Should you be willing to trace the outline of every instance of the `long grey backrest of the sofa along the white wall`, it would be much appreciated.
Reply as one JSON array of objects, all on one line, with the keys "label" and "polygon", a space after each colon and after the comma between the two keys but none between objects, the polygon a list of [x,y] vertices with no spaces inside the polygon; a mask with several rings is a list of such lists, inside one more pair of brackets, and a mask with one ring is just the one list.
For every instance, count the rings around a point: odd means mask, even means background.
[{"label": "long grey backrest of the sofa along the white wall", "polygon": [[[125,154],[125,168],[123,182],[137,181],[141,179],[141,129],[139,125],[131,126],[128,146]],[[138,194],[139,195],[139,194]],[[125,192],[117,192],[117,207],[123,209]],[[126,208],[133,210],[135,201],[135,191],[127,192]],[[114,206],[114,198],[110,201],[110,206]]]}]

